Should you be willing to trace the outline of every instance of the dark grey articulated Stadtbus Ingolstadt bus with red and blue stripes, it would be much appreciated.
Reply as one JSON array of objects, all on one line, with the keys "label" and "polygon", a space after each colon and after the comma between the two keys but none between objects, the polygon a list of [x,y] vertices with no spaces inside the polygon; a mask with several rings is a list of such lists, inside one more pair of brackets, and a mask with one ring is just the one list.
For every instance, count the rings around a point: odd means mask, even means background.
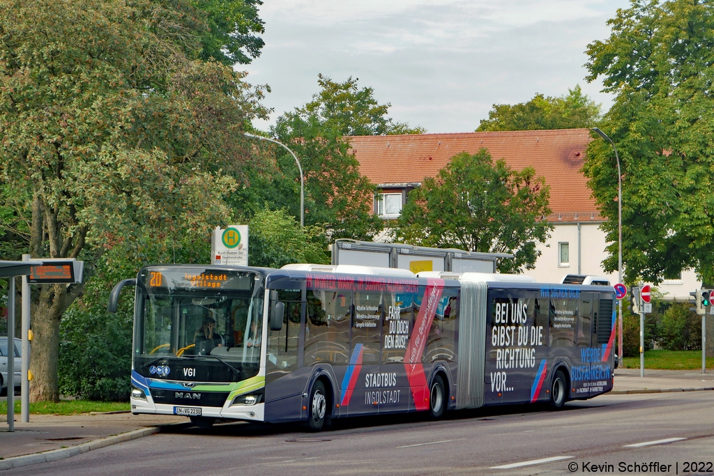
[{"label": "dark grey articulated Stadtbus Ingolstadt bus with red and blue stripes", "polygon": [[603,285],[351,265],[155,265],[136,285],[131,411],[306,422],[612,390]]}]

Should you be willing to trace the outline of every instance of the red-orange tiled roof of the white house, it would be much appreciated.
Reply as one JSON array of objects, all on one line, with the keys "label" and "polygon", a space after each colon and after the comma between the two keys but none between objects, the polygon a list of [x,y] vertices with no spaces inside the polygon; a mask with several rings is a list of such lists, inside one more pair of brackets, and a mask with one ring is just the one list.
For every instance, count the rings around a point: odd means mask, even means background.
[{"label": "red-orange tiled roof of the white house", "polygon": [[550,185],[549,221],[601,220],[580,172],[590,138],[588,129],[471,132],[403,136],[352,136],[360,171],[376,185],[421,183],[434,177],[457,153],[487,148],[493,160],[513,169],[535,168]]}]

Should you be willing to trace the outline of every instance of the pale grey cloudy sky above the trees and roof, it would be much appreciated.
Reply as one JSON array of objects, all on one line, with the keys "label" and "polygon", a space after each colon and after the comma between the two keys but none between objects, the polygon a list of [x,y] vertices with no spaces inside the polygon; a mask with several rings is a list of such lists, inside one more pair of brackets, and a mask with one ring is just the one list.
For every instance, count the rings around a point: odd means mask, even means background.
[{"label": "pale grey cloudy sky above the trees and roof", "polygon": [[237,69],[267,84],[277,116],[310,101],[318,73],[374,88],[389,116],[430,133],[468,132],[494,103],[580,84],[607,111],[602,83],[587,83],[588,44],[628,0],[263,0],[261,56]]}]

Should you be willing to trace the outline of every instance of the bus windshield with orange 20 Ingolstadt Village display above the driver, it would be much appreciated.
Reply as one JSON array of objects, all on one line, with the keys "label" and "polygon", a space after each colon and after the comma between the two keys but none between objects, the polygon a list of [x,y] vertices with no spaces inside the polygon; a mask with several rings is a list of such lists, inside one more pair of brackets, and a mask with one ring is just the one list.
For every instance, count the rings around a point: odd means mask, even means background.
[{"label": "bus windshield with orange 20 Ingolstadt Village display above the driver", "polygon": [[[134,370],[141,375],[229,382],[258,373],[261,274],[198,267],[147,268],[139,273],[137,290]],[[186,360],[191,361],[188,367]]]}]

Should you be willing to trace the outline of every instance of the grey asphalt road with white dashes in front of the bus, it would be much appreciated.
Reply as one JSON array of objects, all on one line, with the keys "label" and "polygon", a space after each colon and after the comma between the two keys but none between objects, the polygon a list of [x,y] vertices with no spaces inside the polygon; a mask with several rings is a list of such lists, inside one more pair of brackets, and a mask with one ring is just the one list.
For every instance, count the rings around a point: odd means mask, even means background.
[{"label": "grey asphalt road with white dashes in front of the bus", "polygon": [[243,423],[178,428],[6,474],[712,475],[712,465],[714,392],[688,392],[603,395],[560,411],[499,407],[438,422],[353,419],[321,433]]}]

